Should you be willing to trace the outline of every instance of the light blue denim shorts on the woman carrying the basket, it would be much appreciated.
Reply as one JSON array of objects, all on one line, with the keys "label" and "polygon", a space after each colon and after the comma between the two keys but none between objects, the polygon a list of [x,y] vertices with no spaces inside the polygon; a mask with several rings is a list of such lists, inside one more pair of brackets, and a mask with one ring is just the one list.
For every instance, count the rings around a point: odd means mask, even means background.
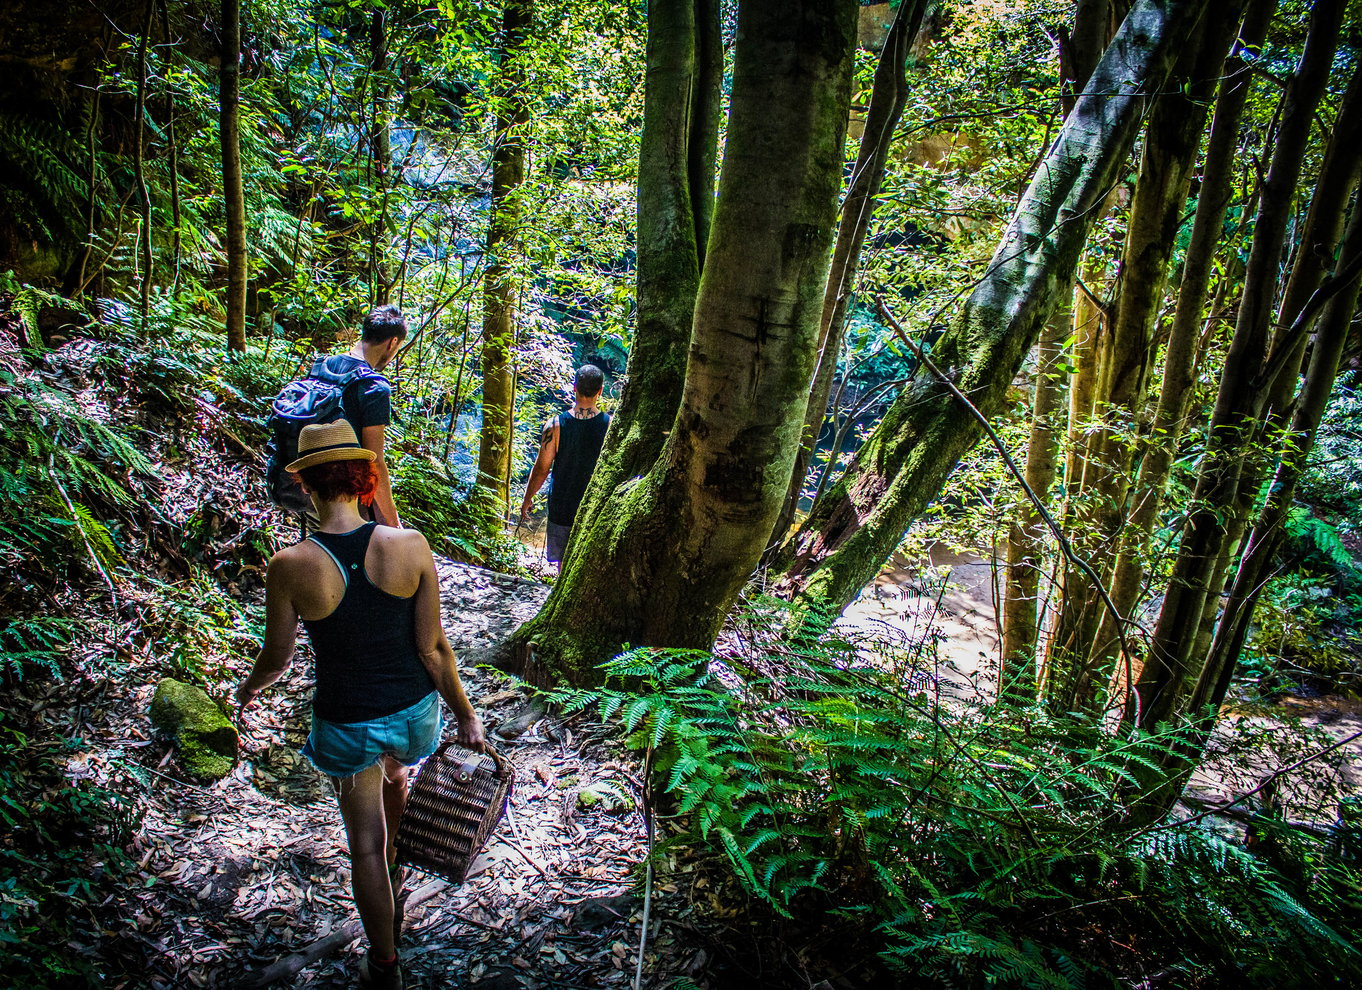
[{"label": "light blue denim shorts on the woman carrying the basket", "polygon": [[414,705],[381,719],[327,722],[313,715],[302,754],[334,778],[353,776],[383,756],[411,767],[434,752],[443,730],[440,694],[432,690]]}]

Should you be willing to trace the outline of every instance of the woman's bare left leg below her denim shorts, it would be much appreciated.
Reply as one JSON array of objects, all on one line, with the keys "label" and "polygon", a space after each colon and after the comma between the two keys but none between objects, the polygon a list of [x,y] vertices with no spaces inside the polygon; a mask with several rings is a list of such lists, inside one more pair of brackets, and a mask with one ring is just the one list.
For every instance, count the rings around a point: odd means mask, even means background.
[{"label": "woman's bare left leg below her denim shorts", "polygon": [[375,764],[338,786],[340,817],[350,842],[350,882],[369,951],[392,959],[392,887],[388,884],[388,829],[384,817],[383,767]]}]

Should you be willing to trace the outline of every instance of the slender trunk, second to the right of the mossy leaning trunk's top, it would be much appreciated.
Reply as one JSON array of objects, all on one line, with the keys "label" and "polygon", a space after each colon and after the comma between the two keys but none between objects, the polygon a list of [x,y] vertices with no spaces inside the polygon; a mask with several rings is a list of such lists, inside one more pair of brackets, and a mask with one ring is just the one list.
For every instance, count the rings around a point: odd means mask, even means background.
[{"label": "slender trunk, second to the right of the mossy leaning trunk's top", "polygon": [[[1239,45],[1245,50],[1256,50],[1263,45],[1275,7],[1276,0],[1254,0],[1249,5],[1239,34]],[[1201,315],[1205,309],[1216,245],[1224,229],[1224,215],[1233,195],[1239,121],[1244,117],[1250,83],[1252,75],[1244,60],[1231,59],[1216,101],[1211,138],[1201,167],[1196,217],[1182,263],[1177,308],[1163,353],[1159,402],[1150,440],[1140,459],[1139,481],[1132,497],[1130,519],[1126,523],[1129,537],[1122,543],[1111,579],[1111,602],[1121,616],[1129,616],[1139,601],[1144,583],[1143,550],[1154,531],[1178,441],[1186,429],[1188,409],[1196,383]],[[1094,644],[1094,667],[1098,671],[1110,671],[1120,648],[1115,618],[1110,613],[1103,613]],[[1102,699],[1098,697],[1096,701],[1100,703]]]}]

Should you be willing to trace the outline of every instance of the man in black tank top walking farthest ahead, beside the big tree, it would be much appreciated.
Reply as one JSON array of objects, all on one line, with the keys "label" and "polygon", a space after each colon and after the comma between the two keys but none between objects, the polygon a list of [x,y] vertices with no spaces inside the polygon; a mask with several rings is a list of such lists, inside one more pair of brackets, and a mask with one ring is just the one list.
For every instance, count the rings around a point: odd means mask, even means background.
[{"label": "man in black tank top walking farthest ahead, beside the big tree", "polygon": [[595,365],[582,365],[577,369],[573,388],[576,400],[572,409],[560,413],[543,425],[539,440],[539,456],[530,471],[530,482],[524,488],[524,501],[520,502],[520,520],[530,517],[534,496],[552,473],[549,485],[549,532],[548,558],[557,564],[568,546],[568,534],[577,507],[587,492],[587,482],[601,456],[605,430],[610,425],[610,414],[602,413],[597,403],[605,374]]}]

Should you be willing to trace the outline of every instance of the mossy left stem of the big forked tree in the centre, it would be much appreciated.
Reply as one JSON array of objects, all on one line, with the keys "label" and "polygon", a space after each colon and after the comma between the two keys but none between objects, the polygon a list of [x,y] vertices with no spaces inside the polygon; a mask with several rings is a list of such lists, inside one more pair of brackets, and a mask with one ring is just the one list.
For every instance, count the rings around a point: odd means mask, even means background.
[{"label": "mossy left stem of the big forked tree in the centre", "polygon": [[681,403],[695,296],[714,212],[723,82],[719,0],[651,0],[646,82],[639,146],[637,327],[620,409],[577,509],[577,532],[591,528],[621,482],[652,467]]}]

